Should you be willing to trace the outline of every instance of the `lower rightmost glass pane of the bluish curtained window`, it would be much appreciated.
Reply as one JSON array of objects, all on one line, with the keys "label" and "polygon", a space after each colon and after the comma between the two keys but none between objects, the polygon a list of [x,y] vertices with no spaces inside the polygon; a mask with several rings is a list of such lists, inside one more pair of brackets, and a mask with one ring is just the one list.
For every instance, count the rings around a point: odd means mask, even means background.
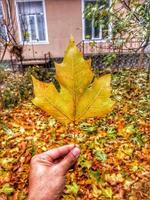
[{"label": "lower rightmost glass pane of the bluish curtained window", "polygon": [[39,40],[45,40],[45,23],[44,23],[44,16],[38,15],[37,16],[37,25],[38,25],[38,33],[39,33]]}]

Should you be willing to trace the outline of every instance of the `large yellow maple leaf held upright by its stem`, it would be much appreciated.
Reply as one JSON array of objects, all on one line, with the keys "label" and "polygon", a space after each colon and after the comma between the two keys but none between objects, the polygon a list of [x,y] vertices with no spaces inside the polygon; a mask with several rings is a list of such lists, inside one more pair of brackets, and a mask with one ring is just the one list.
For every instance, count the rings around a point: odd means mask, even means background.
[{"label": "large yellow maple leaf held upright by its stem", "polygon": [[32,76],[35,98],[32,102],[62,123],[85,118],[103,117],[112,110],[111,75],[96,78],[93,82],[91,60],[85,60],[70,39],[61,64],[55,63],[56,79],[61,90],[53,83],[44,83]]}]

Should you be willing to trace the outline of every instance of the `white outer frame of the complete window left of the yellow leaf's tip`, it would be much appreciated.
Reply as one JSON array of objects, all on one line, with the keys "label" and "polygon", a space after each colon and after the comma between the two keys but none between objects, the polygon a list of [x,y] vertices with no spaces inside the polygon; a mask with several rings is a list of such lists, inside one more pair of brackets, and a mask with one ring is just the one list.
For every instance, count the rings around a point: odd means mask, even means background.
[{"label": "white outer frame of the complete window left of the yellow leaf's tip", "polygon": [[[42,2],[42,4],[43,4],[43,15],[44,15],[44,21],[45,21],[45,41],[40,41],[40,40],[39,41],[37,41],[37,40],[35,40],[35,41],[33,41],[33,40],[22,41],[22,31],[21,31],[21,26],[20,26],[19,12],[18,12],[18,5],[17,5],[17,3],[18,2],[22,2],[22,3],[23,2],[34,2],[34,1],[39,1],[39,2]],[[17,24],[18,24],[18,30],[19,30],[19,40],[20,40],[20,43],[21,44],[24,43],[24,44],[27,44],[27,45],[32,45],[32,44],[35,44],[35,45],[49,44],[45,0],[15,0],[15,7],[16,7],[16,16],[17,16]],[[36,23],[35,23],[35,26],[36,26]],[[36,33],[38,35],[37,26],[36,26]]]}]

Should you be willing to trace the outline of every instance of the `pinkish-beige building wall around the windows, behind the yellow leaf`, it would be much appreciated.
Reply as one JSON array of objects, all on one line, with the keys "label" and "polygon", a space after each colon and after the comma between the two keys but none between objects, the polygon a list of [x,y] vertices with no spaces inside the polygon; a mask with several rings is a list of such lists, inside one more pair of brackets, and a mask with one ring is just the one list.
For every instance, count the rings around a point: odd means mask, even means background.
[{"label": "pinkish-beige building wall around the windows, behind the yellow leaf", "polygon": [[[6,0],[2,0],[5,13],[7,6]],[[17,41],[19,39],[18,21],[16,16],[16,0],[11,0],[11,17],[14,24],[14,32]],[[69,38],[74,36],[76,44],[82,41],[82,0],[44,0],[46,11],[46,25],[48,33],[48,42],[43,44],[30,44],[24,46],[24,58],[44,58],[44,54],[50,52],[52,57],[63,57],[64,50],[67,47]],[[118,5],[119,6],[119,5]],[[105,41],[98,41],[96,45],[91,42],[81,43],[80,49],[85,54],[114,52],[112,44]],[[138,48],[139,43],[133,41],[127,44],[129,47]],[[127,46],[126,45],[126,46]],[[127,53],[127,48],[122,51]],[[0,55],[1,57],[1,55]],[[9,52],[5,59],[10,59]]]}]

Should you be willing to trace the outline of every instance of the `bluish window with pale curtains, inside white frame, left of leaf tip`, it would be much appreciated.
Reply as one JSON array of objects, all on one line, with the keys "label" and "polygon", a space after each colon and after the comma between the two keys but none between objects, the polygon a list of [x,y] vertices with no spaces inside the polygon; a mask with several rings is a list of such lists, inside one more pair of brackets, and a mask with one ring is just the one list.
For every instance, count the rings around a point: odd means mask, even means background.
[{"label": "bluish window with pale curtains, inside white frame, left of leaf tip", "polygon": [[43,1],[17,2],[22,41],[45,42]]}]

